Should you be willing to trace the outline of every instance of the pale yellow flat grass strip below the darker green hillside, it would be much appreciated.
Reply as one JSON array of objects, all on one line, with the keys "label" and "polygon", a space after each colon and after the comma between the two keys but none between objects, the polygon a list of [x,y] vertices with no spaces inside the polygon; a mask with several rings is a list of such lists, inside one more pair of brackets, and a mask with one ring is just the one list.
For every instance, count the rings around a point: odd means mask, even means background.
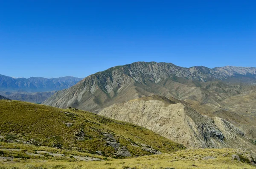
[{"label": "pale yellow flat grass strip below the darker green hillside", "polygon": [[[234,161],[236,149],[187,149],[172,154],[150,155],[109,161],[24,161],[0,163],[0,169],[255,169],[247,163]],[[202,160],[211,156],[215,159]],[[16,168],[15,168],[16,167]]]}]

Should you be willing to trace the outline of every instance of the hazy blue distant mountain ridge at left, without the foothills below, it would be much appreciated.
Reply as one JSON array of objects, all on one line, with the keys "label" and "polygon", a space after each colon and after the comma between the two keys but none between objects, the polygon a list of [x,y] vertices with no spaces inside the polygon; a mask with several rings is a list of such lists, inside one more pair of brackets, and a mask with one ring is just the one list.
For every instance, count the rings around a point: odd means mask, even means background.
[{"label": "hazy blue distant mountain ridge at left, without the foothills below", "polygon": [[0,75],[0,90],[2,91],[26,91],[26,92],[48,92],[63,90],[75,85],[83,78],[65,76],[60,78],[30,77],[12,78]]}]

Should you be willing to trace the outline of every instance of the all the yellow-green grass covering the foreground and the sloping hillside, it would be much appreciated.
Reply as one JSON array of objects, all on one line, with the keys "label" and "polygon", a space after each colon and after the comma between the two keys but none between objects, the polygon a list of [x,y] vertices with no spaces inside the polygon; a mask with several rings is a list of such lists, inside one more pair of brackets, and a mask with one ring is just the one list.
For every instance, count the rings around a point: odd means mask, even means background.
[{"label": "all the yellow-green grass covering the foreground and the sloping hillside", "polygon": [[[105,136],[106,133],[113,138]],[[126,146],[132,157],[116,155],[116,150],[107,144],[113,139],[121,147]],[[164,154],[151,155],[143,149],[145,146]],[[102,155],[97,151],[102,151]],[[255,168],[239,151],[185,149],[151,130],[93,113],[22,101],[0,101],[0,169]],[[241,161],[233,160],[233,154],[238,154]],[[75,156],[103,161],[79,161]],[[207,156],[214,159],[204,160]]]}]

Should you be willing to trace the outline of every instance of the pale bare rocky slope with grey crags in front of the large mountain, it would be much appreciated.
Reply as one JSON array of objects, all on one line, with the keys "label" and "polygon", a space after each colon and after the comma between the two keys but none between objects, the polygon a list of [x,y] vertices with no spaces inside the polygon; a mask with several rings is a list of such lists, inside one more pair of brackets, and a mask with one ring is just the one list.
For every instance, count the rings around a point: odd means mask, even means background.
[{"label": "pale bare rocky slope with grey crags in front of the large mountain", "polygon": [[246,148],[256,152],[242,129],[216,115],[201,115],[183,101],[150,96],[104,108],[99,115],[150,129],[188,148]]}]

